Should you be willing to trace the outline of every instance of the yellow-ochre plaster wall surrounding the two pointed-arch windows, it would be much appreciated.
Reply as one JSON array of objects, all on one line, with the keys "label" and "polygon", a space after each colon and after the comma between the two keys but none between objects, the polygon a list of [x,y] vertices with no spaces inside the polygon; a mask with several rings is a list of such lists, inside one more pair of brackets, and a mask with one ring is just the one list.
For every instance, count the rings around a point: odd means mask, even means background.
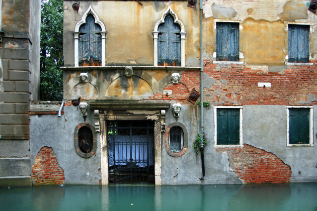
[{"label": "yellow-ochre plaster wall surrounding the two pointed-arch windows", "polygon": [[91,5],[106,26],[106,64],[153,65],[153,30],[169,5],[184,24],[186,65],[199,65],[199,9],[187,8],[187,2],[82,1],[78,13],[76,1],[64,2],[64,65],[74,65],[73,31]]}]

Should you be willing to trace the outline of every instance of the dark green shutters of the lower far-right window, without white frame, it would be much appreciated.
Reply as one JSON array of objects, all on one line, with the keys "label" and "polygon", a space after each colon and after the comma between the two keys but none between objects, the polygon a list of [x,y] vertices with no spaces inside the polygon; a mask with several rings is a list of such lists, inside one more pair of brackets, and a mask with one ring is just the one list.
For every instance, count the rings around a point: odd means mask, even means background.
[{"label": "dark green shutters of the lower far-right window, without white frame", "polygon": [[309,144],[309,109],[289,109],[289,144]]}]

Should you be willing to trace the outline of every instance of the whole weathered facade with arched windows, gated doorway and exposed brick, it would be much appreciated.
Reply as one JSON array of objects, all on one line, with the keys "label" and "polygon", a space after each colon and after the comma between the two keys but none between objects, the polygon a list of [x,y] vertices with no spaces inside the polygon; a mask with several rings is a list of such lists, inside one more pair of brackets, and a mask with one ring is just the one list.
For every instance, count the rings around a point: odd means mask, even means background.
[{"label": "whole weathered facade with arched windows, gated doorway and exposed brick", "polygon": [[30,105],[33,184],[317,180],[310,1],[204,1],[202,46],[187,4],[64,1],[63,113]]}]

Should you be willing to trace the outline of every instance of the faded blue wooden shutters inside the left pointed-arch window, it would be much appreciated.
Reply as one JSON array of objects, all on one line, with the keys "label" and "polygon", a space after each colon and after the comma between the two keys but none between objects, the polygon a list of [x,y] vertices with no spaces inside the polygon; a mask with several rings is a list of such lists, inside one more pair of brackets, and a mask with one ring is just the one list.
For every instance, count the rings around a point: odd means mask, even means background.
[{"label": "faded blue wooden shutters inside the left pointed-arch window", "polygon": [[101,66],[101,27],[95,24],[93,15],[89,15],[86,24],[80,28],[79,65]]}]

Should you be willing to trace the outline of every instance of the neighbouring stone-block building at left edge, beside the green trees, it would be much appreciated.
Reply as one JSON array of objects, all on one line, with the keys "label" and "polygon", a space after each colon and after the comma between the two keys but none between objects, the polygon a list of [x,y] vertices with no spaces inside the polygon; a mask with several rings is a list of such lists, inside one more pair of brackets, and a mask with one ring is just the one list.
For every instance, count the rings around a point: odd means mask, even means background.
[{"label": "neighbouring stone-block building at left edge, beside the green trees", "polygon": [[39,99],[40,1],[0,1],[0,186],[31,185],[29,101]]}]

